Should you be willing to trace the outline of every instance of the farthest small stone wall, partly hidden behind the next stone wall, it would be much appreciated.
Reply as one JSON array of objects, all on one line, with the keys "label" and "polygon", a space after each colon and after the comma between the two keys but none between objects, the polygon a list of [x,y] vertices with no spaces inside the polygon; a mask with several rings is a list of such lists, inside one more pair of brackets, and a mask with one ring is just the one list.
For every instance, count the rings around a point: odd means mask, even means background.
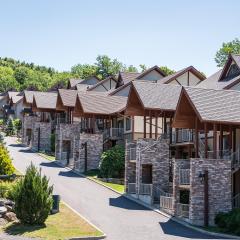
[{"label": "farthest small stone wall, partly hidden behind the next stone wall", "polygon": [[22,143],[25,145],[31,145],[33,140],[33,128],[35,122],[40,121],[37,116],[24,116],[22,123]]}]

